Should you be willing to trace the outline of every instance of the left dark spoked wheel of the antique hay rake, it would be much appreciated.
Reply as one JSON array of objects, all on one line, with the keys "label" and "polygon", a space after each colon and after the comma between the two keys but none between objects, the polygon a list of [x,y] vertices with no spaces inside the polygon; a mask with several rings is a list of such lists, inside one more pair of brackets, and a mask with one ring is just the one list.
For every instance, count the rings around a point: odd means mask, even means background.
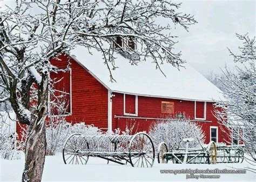
[{"label": "left dark spoked wheel of the antique hay rake", "polygon": [[62,156],[65,164],[83,164],[88,161],[88,156],[85,156],[82,152],[89,149],[87,141],[82,137],[80,133],[73,133],[66,139]]}]

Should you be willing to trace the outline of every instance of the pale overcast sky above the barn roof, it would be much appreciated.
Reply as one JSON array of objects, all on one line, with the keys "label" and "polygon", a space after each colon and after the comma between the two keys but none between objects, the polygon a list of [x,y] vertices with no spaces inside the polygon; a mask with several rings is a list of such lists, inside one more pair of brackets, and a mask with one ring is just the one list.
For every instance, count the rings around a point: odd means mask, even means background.
[{"label": "pale overcast sky above the barn roof", "polygon": [[[5,2],[10,4],[10,0]],[[220,73],[225,64],[232,68],[234,63],[227,47],[235,52],[241,45],[236,32],[255,36],[255,1],[176,2],[183,3],[180,11],[194,15],[198,21],[189,32],[180,28],[173,30],[174,35],[179,36],[176,50],[182,51],[183,59],[204,75],[210,71]]]}]

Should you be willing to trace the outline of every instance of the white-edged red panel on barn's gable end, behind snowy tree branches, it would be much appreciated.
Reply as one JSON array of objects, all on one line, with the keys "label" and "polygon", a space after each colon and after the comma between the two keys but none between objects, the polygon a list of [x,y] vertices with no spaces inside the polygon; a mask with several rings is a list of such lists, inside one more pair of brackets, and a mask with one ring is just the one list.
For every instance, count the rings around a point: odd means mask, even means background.
[{"label": "white-edged red panel on barn's gable end, behind snowy tree branches", "polygon": [[71,70],[51,72],[50,114],[71,114]]}]

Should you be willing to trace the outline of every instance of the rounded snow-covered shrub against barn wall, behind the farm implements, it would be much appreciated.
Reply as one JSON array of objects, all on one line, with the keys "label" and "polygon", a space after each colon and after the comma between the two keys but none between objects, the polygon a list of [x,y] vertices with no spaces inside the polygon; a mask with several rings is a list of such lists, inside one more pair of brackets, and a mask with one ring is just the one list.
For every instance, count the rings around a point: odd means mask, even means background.
[{"label": "rounded snow-covered shrub against barn wall, behind the farm implements", "polygon": [[[149,135],[156,147],[164,141],[169,149],[172,147],[185,147],[184,138],[193,138],[189,147],[198,147],[204,143],[205,134],[201,126],[189,119],[166,118],[150,126]],[[199,140],[199,141],[198,141]]]}]

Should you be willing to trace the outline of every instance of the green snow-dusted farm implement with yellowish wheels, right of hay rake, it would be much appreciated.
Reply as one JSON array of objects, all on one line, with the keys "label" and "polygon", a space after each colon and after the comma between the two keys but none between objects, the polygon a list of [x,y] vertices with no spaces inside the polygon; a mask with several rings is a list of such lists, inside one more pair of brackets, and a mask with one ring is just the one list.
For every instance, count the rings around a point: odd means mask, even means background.
[{"label": "green snow-dusted farm implement with yellowish wheels, right of hay rake", "polygon": [[158,146],[158,163],[186,163],[186,164],[216,164],[216,163],[242,163],[244,150],[242,146],[227,146],[211,141],[206,147],[200,144],[201,148],[172,149],[168,151],[166,143]]}]

